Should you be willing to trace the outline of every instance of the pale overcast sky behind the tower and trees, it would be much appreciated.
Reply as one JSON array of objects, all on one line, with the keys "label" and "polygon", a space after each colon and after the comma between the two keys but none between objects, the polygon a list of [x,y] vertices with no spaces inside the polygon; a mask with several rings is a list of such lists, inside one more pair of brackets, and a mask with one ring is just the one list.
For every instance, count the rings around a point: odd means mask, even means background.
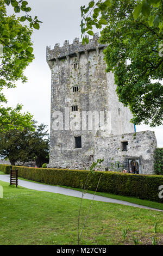
[{"label": "pale overcast sky behind the tower and trees", "polygon": [[[30,14],[38,16],[43,21],[40,30],[32,36],[34,42],[35,60],[24,74],[28,82],[17,82],[17,88],[6,89],[4,94],[8,99],[8,106],[15,107],[17,103],[23,105],[24,112],[30,112],[39,123],[50,125],[51,114],[51,71],[46,63],[46,46],[51,48],[65,40],[72,44],[73,39],[80,38],[80,6],[87,5],[90,0],[29,0],[32,8]],[[9,8],[12,14],[12,8]],[[20,15],[21,16],[21,15]],[[95,31],[97,32],[97,31]],[[158,147],[163,147],[163,125],[151,128],[147,125],[136,126],[136,131],[155,131]]]}]

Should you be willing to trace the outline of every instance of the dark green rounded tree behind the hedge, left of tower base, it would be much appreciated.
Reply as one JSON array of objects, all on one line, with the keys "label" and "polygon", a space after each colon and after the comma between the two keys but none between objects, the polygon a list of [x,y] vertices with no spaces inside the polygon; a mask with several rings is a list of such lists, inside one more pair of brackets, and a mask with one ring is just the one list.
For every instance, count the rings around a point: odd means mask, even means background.
[{"label": "dark green rounded tree behind the hedge, left of tower base", "polygon": [[8,159],[12,165],[16,161],[27,162],[37,160],[43,163],[48,159],[49,154],[49,136],[46,125],[40,124],[35,131],[30,128],[23,130],[12,129],[0,132],[0,156],[2,159]]}]

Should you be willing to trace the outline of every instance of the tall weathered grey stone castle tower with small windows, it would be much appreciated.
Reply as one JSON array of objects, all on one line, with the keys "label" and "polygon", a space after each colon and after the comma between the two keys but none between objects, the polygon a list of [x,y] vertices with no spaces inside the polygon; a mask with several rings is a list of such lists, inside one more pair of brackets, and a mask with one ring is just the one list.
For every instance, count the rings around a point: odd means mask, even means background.
[{"label": "tall weathered grey stone castle tower with small windows", "polygon": [[[135,168],[143,172],[142,155],[132,150],[129,159],[127,154],[135,134],[132,115],[118,102],[114,74],[105,72],[104,48],[98,34],[87,45],[76,38],[71,45],[66,40],[63,47],[47,47],[47,63],[52,71],[49,167],[83,169],[104,158],[103,169],[107,170],[115,158],[117,168],[120,163],[129,168],[131,161],[136,161]],[[147,132],[155,147],[155,136]]]}]

